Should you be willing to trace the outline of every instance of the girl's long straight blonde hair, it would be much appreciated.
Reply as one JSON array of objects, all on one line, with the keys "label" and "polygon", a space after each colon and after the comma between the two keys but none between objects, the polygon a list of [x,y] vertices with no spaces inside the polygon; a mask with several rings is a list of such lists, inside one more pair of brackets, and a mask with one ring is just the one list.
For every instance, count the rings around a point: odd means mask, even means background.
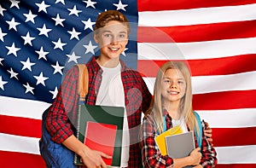
[{"label": "girl's long straight blonde hair", "polygon": [[154,119],[155,125],[159,132],[163,132],[163,108],[161,101],[161,83],[164,78],[165,72],[168,69],[177,69],[182,72],[183,77],[186,82],[186,90],[184,96],[181,98],[179,103],[179,111],[181,117],[184,118],[185,123],[188,125],[189,130],[196,130],[197,135],[199,135],[199,127],[195,118],[195,113],[193,113],[192,107],[192,85],[191,85],[191,74],[189,67],[183,61],[167,61],[164,65],[160,67],[157,72],[157,76],[154,84],[154,98],[151,101],[148,111],[145,113],[147,116],[151,113]]}]

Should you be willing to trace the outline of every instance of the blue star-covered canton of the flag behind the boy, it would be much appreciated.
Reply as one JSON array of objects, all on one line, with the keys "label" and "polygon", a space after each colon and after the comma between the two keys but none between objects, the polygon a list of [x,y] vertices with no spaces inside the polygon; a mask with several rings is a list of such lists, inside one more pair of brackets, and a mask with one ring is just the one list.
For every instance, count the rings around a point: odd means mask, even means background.
[{"label": "blue star-covered canton of the flag behind the boy", "polygon": [[[0,95],[52,102],[66,70],[99,55],[96,17],[119,10],[137,25],[134,0],[0,2]],[[137,68],[137,30],[121,59]]]}]

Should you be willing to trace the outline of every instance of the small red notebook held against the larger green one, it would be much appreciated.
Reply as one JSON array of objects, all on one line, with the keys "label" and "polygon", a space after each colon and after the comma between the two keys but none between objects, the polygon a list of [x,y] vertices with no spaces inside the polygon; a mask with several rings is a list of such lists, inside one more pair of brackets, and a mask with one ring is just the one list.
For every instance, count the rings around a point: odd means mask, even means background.
[{"label": "small red notebook held against the larger green one", "polygon": [[[102,151],[113,157],[116,131],[117,125],[88,121],[84,134],[84,144],[91,149]],[[112,164],[112,159],[102,159],[106,165]]]}]

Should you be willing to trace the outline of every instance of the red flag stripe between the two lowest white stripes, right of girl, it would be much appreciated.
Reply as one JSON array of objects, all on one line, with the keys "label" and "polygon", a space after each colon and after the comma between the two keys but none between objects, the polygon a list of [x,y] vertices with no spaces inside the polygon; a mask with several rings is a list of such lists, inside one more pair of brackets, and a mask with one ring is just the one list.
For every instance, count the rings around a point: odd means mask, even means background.
[{"label": "red flag stripe between the two lowest white stripes, right of girl", "polygon": [[[248,132],[250,132],[248,134]],[[256,145],[256,127],[248,128],[212,128],[215,147]]]}]

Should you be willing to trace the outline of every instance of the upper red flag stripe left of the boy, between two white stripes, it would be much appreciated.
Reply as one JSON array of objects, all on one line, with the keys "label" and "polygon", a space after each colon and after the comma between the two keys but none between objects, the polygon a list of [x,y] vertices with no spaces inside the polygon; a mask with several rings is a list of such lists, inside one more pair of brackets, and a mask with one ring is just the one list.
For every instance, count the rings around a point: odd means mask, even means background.
[{"label": "upper red flag stripe left of the boy, between two white stripes", "polygon": [[0,115],[0,132],[16,136],[41,136],[41,120]]}]

